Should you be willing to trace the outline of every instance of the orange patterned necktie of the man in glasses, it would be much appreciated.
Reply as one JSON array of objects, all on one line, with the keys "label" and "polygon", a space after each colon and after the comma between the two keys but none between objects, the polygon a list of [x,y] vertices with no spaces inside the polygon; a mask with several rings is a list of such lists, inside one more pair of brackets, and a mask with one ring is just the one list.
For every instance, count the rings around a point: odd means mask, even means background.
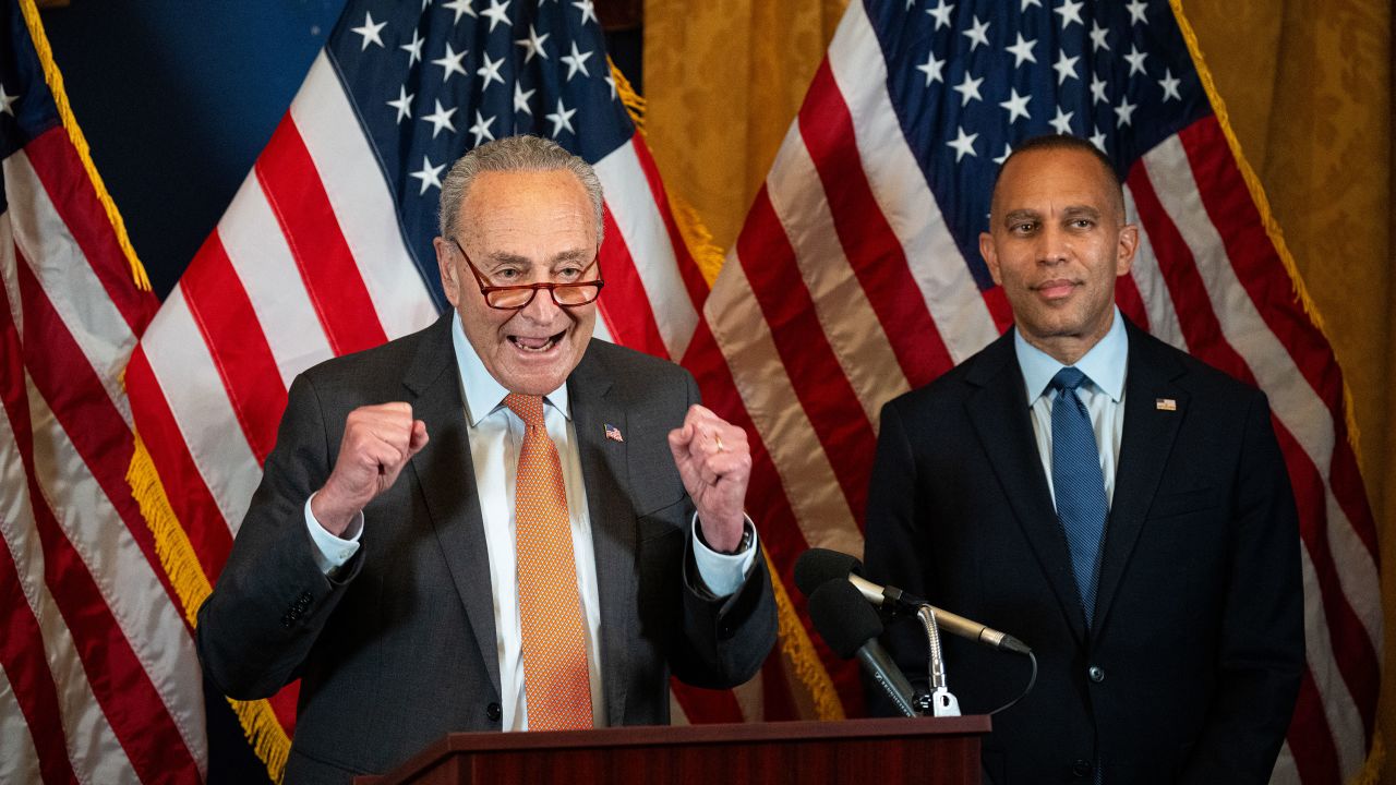
[{"label": "orange patterned necktie of the man in glasses", "polygon": [[592,687],[563,465],[543,425],[543,398],[510,392],[504,405],[528,426],[514,485],[528,726],[591,728]]}]

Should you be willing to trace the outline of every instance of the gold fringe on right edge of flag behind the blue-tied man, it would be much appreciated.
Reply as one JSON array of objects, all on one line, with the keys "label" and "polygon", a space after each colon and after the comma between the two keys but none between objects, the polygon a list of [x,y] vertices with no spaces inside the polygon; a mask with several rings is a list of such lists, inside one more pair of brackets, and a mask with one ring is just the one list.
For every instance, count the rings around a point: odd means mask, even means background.
[{"label": "gold fringe on right edge of flag behind the blue-tied man", "polygon": [[[1198,43],[1198,35],[1188,22],[1188,17],[1182,13],[1182,0],[1168,0],[1173,6],[1173,15],[1178,20],[1178,29],[1182,31],[1182,39],[1188,43],[1188,53],[1192,56],[1192,64],[1198,68],[1198,78],[1202,81],[1203,89],[1208,91],[1208,99],[1212,102],[1212,112],[1217,117],[1217,124],[1222,126],[1222,133],[1226,134],[1227,145],[1231,148],[1231,156],[1235,158],[1235,165],[1241,170],[1241,177],[1245,180],[1247,190],[1251,191],[1251,201],[1255,203],[1256,211],[1261,214],[1261,221],[1265,223],[1265,233],[1270,236],[1270,243],[1275,244],[1276,253],[1280,256],[1280,261],[1284,264],[1284,271],[1290,275],[1290,284],[1294,289],[1294,296],[1298,299],[1300,305],[1304,307],[1304,314],[1309,317],[1314,327],[1323,335],[1332,346],[1332,341],[1328,338],[1328,331],[1323,328],[1323,317],[1318,313],[1318,306],[1309,298],[1308,289],[1304,288],[1304,279],[1300,277],[1298,265],[1294,263],[1294,256],[1290,253],[1289,244],[1284,243],[1284,233],[1280,230],[1279,221],[1275,219],[1275,212],[1270,210],[1270,200],[1265,196],[1265,186],[1261,184],[1261,177],[1256,176],[1255,169],[1251,168],[1251,162],[1245,159],[1245,154],[1241,152],[1241,141],[1237,138],[1235,131],[1231,129],[1231,120],[1227,116],[1226,102],[1222,101],[1222,94],[1217,92],[1216,81],[1212,78],[1212,71],[1208,68],[1206,59],[1202,56],[1202,46]],[[1333,358],[1337,362],[1337,358]],[[1347,386],[1347,377],[1343,379],[1343,419],[1347,422],[1347,443],[1353,447],[1353,453],[1357,455],[1358,471],[1361,471],[1362,451],[1358,447],[1358,430],[1357,430],[1357,416],[1353,413],[1356,411],[1353,404],[1353,390]],[[1372,746],[1367,753],[1367,764],[1353,775],[1350,785],[1375,785],[1382,778],[1382,770],[1386,764],[1386,744],[1382,739],[1381,724],[1372,728]]]}]

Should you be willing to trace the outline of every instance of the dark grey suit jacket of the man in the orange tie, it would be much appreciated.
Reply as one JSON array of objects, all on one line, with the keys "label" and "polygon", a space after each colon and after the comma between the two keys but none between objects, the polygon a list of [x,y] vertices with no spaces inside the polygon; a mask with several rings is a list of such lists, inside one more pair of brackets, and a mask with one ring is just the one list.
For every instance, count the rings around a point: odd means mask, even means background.
[{"label": "dark grey suit jacket of the man in the orange tie", "polygon": [[[761,666],[776,630],[769,575],[758,555],[725,601],[697,578],[694,506],[666,440],[698,401],[687,372],[592,341],[568,398],[592,515],[607,721],[667,724],[670,673],[730,687]],[[364,510],[360,550],[331,580],[313,560],[303,507],[335,464],[345,416],[387,401],[410,402],[431,439]],[[604,437],[607,423],[624,441]],[[342,784],[387,771],[447,732],[500,729],[494,641],[450,316],[299,376],[198,613],[211,680],[257,698],[300,677],[286,782]]]}]

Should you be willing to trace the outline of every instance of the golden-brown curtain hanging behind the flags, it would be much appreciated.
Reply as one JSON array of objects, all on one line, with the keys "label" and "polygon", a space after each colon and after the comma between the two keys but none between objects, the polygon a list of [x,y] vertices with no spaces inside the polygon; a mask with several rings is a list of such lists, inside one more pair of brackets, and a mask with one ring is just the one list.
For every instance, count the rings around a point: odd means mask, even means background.
[{"label": "golden-brown curtain hanging behind the flags", "polygon": [[[646,133],[670,193],[732,246],[846,0],[645,1]],[[1396,665],[1389,0],[1184,0],[1231,126],[1353,392]],[[1396,739],[1383,679],[1381,726]],[[1383,781],[1396,782],[1396,765]]]}]

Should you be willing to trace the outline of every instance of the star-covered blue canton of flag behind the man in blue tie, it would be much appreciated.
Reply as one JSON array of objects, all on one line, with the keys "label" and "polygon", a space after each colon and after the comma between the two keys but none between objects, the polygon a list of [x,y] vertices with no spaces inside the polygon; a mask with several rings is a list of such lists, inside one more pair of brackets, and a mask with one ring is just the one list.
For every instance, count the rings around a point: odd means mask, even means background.
[{"label": "star-covered blue canton of flag behind the man in blue tie", "polygon": [[888,92],[979,288],[1000,163],[1041,134],[1089,138],[1121,176],[1210,115],[1167,0],[866,0]]}]

